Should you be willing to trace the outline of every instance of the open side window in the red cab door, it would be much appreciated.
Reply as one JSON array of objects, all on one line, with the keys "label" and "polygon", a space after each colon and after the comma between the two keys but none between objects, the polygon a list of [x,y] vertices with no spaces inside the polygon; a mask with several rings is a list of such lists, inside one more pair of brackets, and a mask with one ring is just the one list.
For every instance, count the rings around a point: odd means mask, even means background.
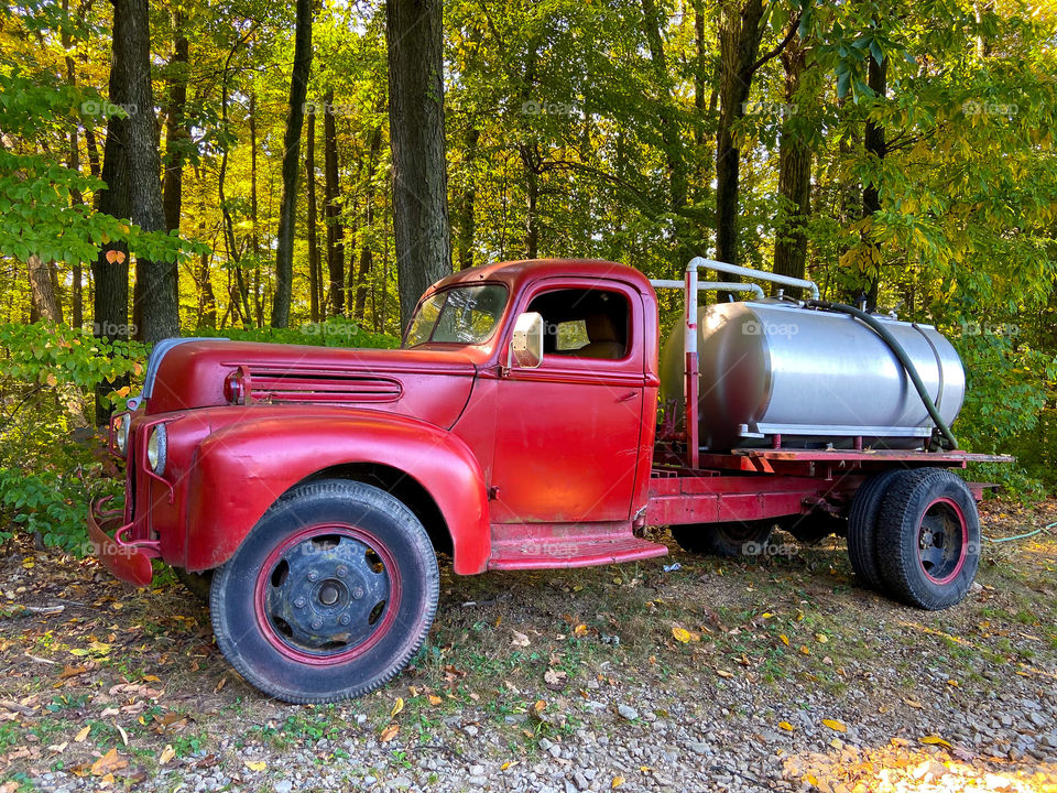
[{"label": "open side window in the red cab door", "polygon": [[619,292],[565,289],[528,304],[544,322],[544,355],[620,360],[628,355],[630,306]]}]

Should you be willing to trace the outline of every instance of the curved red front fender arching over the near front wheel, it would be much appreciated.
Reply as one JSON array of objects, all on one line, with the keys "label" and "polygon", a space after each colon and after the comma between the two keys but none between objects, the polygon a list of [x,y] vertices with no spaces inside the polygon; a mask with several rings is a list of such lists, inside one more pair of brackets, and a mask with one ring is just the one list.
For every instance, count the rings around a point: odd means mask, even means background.
[{"label": "curved red front fender arching over the near front wheel", "polygon": [[187,569],[227,562],[268,508],[297,482],[357,463],[404,471],[433,497],[451,535],[456,573],[483,572],[491,553],[481,466],[461,439],[426,422],[368,411],[262,416],[213,433],[195,457]]}]

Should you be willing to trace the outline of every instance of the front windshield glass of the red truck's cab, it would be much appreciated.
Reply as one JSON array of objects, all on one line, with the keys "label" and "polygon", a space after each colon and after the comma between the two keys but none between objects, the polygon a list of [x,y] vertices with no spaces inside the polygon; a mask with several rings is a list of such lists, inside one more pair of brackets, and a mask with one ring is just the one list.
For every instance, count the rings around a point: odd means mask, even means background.
[{"label": "front windshield glass of the red truck's cab", "polygon": [[495,330],[506,287],[502,284],[457,286],[426,300],[411,319],[404,347],[427,343],[481,344]]}]

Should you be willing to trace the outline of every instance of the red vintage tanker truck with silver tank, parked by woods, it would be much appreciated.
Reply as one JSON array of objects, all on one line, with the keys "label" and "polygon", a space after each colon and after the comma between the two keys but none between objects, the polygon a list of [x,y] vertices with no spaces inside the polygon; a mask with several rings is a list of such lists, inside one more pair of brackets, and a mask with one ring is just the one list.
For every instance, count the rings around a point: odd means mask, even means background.
[{"label": "red vintage tanker truck with silver tank, parked by woods", "polygon": [[[712,269],[804,289],[705,283]],[[660,354],[656,289],[685,292]],[[698,308],[702,289],[751,300]],[[979,561],[981,488],[951,472],[965,376],[935,328],[822,303],[808,281],[695,259],[685,282],[612,262],[465,270],[399,350],[170,339],[111,422],[123,508],[89,532],[119,578],[209,583],[253,685],[329,702],[391,680],[454,571],[684,548],[765,553],[775,525],[846,532],[862,582],[938,609]]]}]

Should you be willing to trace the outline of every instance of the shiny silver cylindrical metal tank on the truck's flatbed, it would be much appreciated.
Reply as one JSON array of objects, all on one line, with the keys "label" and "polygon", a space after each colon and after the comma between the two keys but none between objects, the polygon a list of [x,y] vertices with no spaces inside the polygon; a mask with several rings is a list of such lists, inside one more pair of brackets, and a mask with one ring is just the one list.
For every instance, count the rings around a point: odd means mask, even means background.
[{"label": "shiny silver cylindrical metal tank on the truck's flatbed", "polygon": [[[914,362],[949,425],[966,376],[931,325],[875,315]],[[682,412],[683,326],[661,354],[661,397]],[[771,445],[833,444],[912,448],[933,422],[887,345],[847,314],[778,300],[720,303],[698,313],[700,443],[717,452]]]}]

